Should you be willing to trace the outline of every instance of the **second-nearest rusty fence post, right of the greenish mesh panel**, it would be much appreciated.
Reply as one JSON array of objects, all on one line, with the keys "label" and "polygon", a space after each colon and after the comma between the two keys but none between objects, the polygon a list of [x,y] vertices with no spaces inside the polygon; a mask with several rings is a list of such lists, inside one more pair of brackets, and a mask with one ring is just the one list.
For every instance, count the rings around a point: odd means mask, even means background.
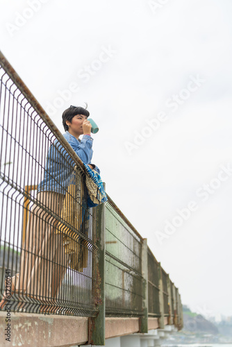
[{"label": "second-nearest rusty fence post, right of the greenish mesh panel", "polygon": [[142,242],[142,310],[140,332],[148,332],[148,268],[147,268],[147,239]]}]

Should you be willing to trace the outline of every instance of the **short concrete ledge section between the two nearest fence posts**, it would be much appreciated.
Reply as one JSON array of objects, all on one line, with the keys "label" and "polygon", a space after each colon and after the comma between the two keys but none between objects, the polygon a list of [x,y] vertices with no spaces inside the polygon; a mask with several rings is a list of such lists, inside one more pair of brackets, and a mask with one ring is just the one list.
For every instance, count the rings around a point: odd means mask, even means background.
[{"label": "short concrete ledge section between the two nearest fence posts", "polygon": [[130,334],[133,334],[134,332],[138,332],[140,329],[139,323],[140,323],[140,320],[138,318],[106,317],[106,339],[110,339],[110,337],[112,338],[112,337],[130,335]]}]

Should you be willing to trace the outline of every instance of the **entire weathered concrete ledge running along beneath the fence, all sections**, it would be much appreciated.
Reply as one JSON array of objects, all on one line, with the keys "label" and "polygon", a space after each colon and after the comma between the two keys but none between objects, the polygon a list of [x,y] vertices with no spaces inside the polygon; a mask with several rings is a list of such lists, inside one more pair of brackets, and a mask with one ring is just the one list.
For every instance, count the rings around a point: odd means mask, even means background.
[{"label": "entire weathered concrete ledge running along beneath the fence, all sections", "polygon": [[[88,317],[13,312],[8,321],[10,341],[7,341],[6,316],[6,311],[0,312],[0,346],[69,347],[88,341]],[[106,317],[106,339],[134,334],[139,327],[139,318]],[[158,318],[149,318],[148,329],[158,328]]]}]

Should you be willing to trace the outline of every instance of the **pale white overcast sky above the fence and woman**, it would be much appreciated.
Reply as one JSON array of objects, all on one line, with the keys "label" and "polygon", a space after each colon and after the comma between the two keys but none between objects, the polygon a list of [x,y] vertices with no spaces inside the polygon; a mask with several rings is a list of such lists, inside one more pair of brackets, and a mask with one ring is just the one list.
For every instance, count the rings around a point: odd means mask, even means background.
[{"label": "pale white overcast sky above the fence and woman", "polygon": [[[110,197],[184,304],[232,315],[232,176],[217,178],[232,167],[232,2],[154,0],[151,10],[148,0],[38,1],[0,1],[1,51],[62,133],[63,110],[88,102],[100,128],[92,162]],[[183,91],[197,76],[194,92]],[[51,112],[71,83],[79,90]],[[172,112],[174,94],[181,105]],[[165,121],[146,130],[159,112]],[[141,133],[149,137],[134,148]],[[207,201],[204,184],[213,187]],[[196,210],[167,235],[167,221],[190,201]]]}]

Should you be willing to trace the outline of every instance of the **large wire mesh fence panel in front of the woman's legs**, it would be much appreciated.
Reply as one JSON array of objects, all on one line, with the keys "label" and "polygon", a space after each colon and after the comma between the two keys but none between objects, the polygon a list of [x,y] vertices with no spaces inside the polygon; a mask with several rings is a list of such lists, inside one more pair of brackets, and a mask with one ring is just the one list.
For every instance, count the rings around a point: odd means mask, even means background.
[{"label": "large wire mesh fence panel in front of the woman's legs", "polygon": [[1,294],[12,311],[94,316],[83,168],[2,66],[0,81]]}]

